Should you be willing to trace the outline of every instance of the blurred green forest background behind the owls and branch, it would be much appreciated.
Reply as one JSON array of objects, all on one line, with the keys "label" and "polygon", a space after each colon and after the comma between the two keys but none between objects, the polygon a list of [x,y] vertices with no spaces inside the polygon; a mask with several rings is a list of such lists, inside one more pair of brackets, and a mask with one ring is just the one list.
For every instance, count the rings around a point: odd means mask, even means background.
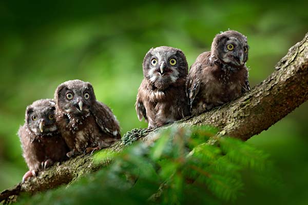
[{"label": "blurred green forest background behind the owls and branch", "polygon": [[[134,110],[151,47],[183,50],[188,64],[210,49],[220,31],[248,38],[249,80],[259,84],[288,49],[308,32],[306,1],[1,1],[0,2],[0,190],[27,171],[16,132],[26,106],[52,98],[70,79],[89,81],[97,99],[112,108],[122,134],[139,127]],[[238,203],[308,204],[308,104],[248,143],[266,151],[279,168],[287,193],[258,188],[246,179]],[[254,200],[252,200],[254,198]]]}]

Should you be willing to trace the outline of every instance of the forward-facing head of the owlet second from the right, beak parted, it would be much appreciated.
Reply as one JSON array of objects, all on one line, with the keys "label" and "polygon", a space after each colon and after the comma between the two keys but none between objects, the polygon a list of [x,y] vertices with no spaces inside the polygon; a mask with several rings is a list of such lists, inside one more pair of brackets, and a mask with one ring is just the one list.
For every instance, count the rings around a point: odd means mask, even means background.
[{"label": "forward-facing head of the owlet second from the right, beak parted", "polygon": [[159,89],[186,78],[188,64],[184,53],[177,48],[161,46],[151,48],[143,60],[143,75]]}]

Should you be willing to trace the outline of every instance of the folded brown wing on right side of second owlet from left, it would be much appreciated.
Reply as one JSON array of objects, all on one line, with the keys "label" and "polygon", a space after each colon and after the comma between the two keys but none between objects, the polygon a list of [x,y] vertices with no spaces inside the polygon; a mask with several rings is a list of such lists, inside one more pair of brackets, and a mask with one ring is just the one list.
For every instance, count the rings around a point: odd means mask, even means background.
[{"label": "folded brown wing on right side of second owlet from left", "polygon": [[114,138],[121,138],[119,122],[108,106],[97,101],[91,106],[91,113],[104,133]]}]

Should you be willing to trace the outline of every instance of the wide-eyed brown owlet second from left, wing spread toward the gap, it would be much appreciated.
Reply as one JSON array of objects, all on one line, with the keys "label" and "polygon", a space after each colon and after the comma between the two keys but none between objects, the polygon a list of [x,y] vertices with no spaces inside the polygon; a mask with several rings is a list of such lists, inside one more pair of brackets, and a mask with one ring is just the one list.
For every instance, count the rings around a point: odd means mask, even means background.
[{"label": "wide-eyed brown owlet second from left, wing spread toward the gap", "polygon": [[57,125],[71,150],[68,157],[109,147],[121,138],[118,120],[96,100],[90,83],[66,81],[56,88],[54,99]]}]

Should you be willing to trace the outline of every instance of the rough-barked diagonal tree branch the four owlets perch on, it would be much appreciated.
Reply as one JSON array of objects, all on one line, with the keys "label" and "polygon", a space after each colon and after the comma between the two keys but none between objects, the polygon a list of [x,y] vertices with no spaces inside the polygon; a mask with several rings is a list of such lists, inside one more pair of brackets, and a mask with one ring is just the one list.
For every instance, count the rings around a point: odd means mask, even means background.
[{"label": "rough-barked diagonal tree branch the four owlets perch on", "polygon": [[[275,68],[275,72],[240,98],[198,116],[182,119],[172,126],[212,125],[220,129],[217,136],[228,135],[242,140],[268,129],[308,99],[308,33],[288,51]],[[150,143],[158,137],[157,131],[169,126],[155,130],[134,129],[102,152],[120,152],[129,144],[129,140],[142,139]],[[212,139],[210,143],[215,140]],[[108,160],[100,164],[93,163],[90,155],[72,158],[40,172],[37,177],[25,183],[1,192],[0,201],[12,201],[13,196],[23,192],[33,194],[68,184],[109,163]]]}]

